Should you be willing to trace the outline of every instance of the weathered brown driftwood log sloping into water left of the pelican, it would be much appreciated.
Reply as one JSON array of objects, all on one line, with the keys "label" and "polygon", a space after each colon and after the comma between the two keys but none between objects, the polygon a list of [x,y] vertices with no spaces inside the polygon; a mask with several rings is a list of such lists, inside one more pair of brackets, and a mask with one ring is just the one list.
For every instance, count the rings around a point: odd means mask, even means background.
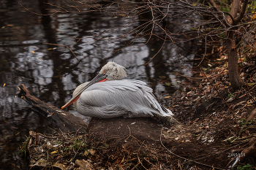
[{"label": "weathered brown driftwood log sloping into water left of the pelican", "polygon": [[47,104],[39,100],[39,98],[32,96],[23,84],[19,85],[18,89],[18,95],[28,102],[32,106],[32,109],[50,120],[61,132],[86,131],[88,123],[85,123],[80,117],[53,107],[53,105]]}]

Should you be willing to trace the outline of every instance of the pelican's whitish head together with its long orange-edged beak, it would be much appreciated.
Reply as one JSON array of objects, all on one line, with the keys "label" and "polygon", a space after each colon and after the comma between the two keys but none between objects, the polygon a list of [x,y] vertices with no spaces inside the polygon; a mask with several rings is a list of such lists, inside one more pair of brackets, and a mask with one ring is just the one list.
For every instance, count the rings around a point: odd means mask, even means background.
[{"label": "pelican's whitish head together with its long orange-edged beak", "polygon": [[68,107],[70,104],[74,103],[80,97],[80,94],[83,93],[83,90],[86,90],[90,85],[93,85],[97,82],[104,82],[106,80],[122,80],[127,78],[127,72],[124,66],[120,66],[114,62],[108,62],[102,69],[99,71],[99,74],[94,77],[91,82],[89,82],[85,87],[78,91],[61,109]]}]

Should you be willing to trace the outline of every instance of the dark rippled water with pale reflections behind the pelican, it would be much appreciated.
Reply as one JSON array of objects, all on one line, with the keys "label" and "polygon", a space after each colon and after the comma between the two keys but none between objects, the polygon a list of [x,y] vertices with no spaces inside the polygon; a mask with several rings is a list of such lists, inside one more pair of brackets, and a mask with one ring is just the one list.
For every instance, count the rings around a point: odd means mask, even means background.
[{"label": "dark rippled water with pale reflections behind the pelican", "polygon": [[[29,169],[18,148],[29,131],[43,134],[53,128],[25,101],[15,97],[21,83],[34,96],[60,108],[78,85],[91,80],[108,61],[115,61],[127,68],[129,79],[148,82],[160,101],[167,105],[170,98],[163,97],[184,89],[180,83],[184,78],[175,73],[192,75],[193,63],[181,64],[180,60],[194,58],[193,42],[182,42],[181,46],[189,52],[177,55],[171,42],[165,42],[162,47],[162,40],[156,36],[149,41],[148,36],[135,39],[135,35],[129,34],[124,37],[141,24],[139,20],[104,12],[37,15],[48,13],[45,9],[50,5],[44,2],[64,5],[64,1],[0,2],[0,170]],[[127,26],[128,23],[131,24]],[[184,23],[187,24],[186,20]],[[135,42],[127,46],[133,39]],[[43,43],[69,47],[80,62],[68,48]],[[74,107],[69,112],[77,114]]]}]

